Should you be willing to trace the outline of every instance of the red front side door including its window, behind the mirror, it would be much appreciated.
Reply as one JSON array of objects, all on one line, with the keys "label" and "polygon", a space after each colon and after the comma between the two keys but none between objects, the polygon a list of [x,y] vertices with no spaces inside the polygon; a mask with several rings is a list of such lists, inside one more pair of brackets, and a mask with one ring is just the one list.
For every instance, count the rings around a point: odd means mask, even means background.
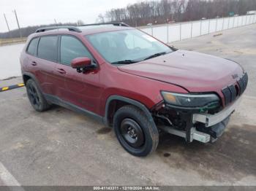
[{"label": "red front side door including its window, behind the mirror", "polygon": [[79,57],[88,57],[95,62],[80,39],[72,35],[62,35],[59,41],[59,64],[54,71],[59,80],[57,94],[68,103],[97,112],[101,94],[99,68],[85,74],[78,73],[76,69],[72,69],[71,61]]}]

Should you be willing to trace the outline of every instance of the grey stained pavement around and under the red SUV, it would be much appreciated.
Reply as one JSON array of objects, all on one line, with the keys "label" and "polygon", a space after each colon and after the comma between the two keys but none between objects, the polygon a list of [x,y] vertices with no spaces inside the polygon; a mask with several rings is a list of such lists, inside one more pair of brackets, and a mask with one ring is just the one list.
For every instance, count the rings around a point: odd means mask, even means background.
[{"label": "grey stained pavement around and under the red SUV", "polygon": [[253,25],[173,43],[231,58],[249,72],[244,99],[215,144],[187,146],[162,134],[157,152],[133,157],[89,117],[59,106],[35,112],[20,87],[0,93],[0,163],[22,185],[256,185],[255,35]]}]

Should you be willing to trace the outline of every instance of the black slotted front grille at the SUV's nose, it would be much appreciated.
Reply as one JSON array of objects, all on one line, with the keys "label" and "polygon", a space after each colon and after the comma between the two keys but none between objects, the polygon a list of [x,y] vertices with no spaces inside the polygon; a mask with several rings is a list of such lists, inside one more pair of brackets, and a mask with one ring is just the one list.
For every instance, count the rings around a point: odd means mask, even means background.
[{"label": "black slotted front grille at the SUV's nose", "polygon": [[231,102],[236,100],[236,97],[238,95],[241,95],[242,93],[244,93],[244,90],[246,89],[246,86],[248,83],[247,73],[245,73],[243,77],[238,79],[237,83],[239,86],[238,88],[236,88],[237,85],[229,85],[229,86],[225,87],[224,89],[222,89],[222,93],[225,98],[226,106],[227,106],[227,104],[230,104]]}]

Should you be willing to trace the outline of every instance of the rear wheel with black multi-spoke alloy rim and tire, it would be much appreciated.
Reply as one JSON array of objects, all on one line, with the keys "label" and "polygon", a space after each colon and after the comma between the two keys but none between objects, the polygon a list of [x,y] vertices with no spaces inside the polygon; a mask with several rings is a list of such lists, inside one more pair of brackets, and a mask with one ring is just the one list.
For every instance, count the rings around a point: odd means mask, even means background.
[{"label": "rear wheel with black multi-spoke alloy rim and tire", "polygon": [[37,112],[43,112],[50,108],[50,104],[45,100],[33,79],[29,79],[28,82],[26,82],[26,93],[31,106],[33,106]]}]

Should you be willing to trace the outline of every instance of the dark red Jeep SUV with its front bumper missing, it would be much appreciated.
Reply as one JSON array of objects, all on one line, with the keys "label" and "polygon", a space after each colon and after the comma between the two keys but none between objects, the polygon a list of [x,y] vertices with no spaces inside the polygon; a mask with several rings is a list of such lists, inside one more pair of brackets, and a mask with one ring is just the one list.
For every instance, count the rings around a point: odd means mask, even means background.
[{"label": "dark red Jeep SUV with its front bumper missing", "polygon": [[20,63],[35,110],[88,114],[136,156],[157,149],[160,130],[216,141],[248,82],[235,61],[177,50],[124,23],[39,28]]}]

